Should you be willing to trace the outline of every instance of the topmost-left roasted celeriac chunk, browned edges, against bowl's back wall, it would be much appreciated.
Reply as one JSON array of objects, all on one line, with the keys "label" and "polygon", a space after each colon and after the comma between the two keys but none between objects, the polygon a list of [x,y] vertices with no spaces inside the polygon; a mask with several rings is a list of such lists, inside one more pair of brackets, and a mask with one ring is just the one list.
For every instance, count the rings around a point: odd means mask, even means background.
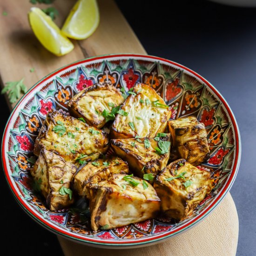
[{"label": "topmost-left roasted celeriac chunk, browned edges, against bowl's back wall", "polygon": [[122,94],[110,81],[101,82],[76,94],[68,102],[68,109],[71,115],[83,117],[89,125],[102,128],[106,123],[103,111],[109,113],[123,101]]}]

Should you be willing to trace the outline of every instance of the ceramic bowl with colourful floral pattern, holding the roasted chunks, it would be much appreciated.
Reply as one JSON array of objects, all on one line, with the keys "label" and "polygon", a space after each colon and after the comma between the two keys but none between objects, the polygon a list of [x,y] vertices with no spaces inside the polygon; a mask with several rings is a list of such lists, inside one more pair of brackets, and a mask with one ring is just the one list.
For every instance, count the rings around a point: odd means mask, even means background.
[{"label": "ceramic bowl with colourful floral pattern, holding the roasted chunks", "polygon": [[[153,219],[125,227],[92,231],[87,218],[68,209],[49,211],[34,193],[28,158],[34,140],[52,108],[67,112],[67,101],[95,82],[111,81],[128,91],[136,82],[153,87],[171,107],[172,116],[196,115],[208,133],[210,157],[198,168],[214,173],[215,189],[182,222]],[[115,54],[78,61],[49,74],[14,108],[4,132],[2,159],[9,186],[20,206],[56,234],[101,247],[135,247],[181,234],[208,216],[231,188],[240,162],[240,135],[222,95],[208,81],[180,64],[162,58]],[[216,220],[218,221],[218,220]]]}]

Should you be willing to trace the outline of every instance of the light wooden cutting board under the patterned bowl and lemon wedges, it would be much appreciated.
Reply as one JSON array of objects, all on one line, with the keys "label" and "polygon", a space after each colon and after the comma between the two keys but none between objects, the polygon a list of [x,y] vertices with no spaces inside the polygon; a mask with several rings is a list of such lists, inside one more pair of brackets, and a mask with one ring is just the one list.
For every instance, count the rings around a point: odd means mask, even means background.
[{"label": "light wooden cutting board under the patterned bowl and lemon wedges", "polygon": [[[68,63],[89,56],[113,53],[146,54],[140,41],[121,14],[114,0],[99,0],[101,22],[96,32],[87,40],[73,41],[74,50],[56,57],[44,49],[32,33],[27,12],[29,0],[0,1],[0,12],[6,12],[0,20],[0,82],[18,81],[25,78],[30,88],[45,75]],[[60,16],[56,23],[61,26],[74,0],[55,0]],[[49,7],[37,5],[38,7]],[[34,68],[31,73],[30,69]],[[10,109],[15,104],[9,104]],[[195,228],[168,241],[140,249],[96,249],[58,237],[66,256],[123,255],[123,256],[231,256],[236,255],[238,216],[236,206],[228,193],[220,206]]]}]

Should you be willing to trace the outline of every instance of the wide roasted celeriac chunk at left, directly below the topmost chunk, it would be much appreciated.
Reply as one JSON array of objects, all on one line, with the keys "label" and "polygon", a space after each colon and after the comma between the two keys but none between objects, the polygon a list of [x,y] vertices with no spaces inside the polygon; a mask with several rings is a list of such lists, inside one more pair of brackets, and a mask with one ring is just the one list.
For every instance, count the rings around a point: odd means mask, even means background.
[{"label": "wide roasted celeriac chunk at left, directly below the topmost chunk", "polygon": [[108,134],[54,110],[47,114],[40,129],[35,141],[34,154],[39,155],[42,148],[73,163],[78,158],[93,161],[108,150]]}]

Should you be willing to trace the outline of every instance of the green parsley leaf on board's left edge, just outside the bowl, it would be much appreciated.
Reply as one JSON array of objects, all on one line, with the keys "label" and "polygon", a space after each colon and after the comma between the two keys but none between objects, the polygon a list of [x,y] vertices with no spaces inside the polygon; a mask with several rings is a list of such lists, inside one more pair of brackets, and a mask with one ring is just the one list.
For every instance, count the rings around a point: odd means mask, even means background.
[{"label": "green parsley leaf on board's left edge, just outside the bowl", "polygon": [[16,102],[20,98],[20,92],[26,93],[27,87],[23,83],[24,78],[20,81],[7,82],[6,86],[1,90],[1,94],[7,93],[10,103]]}]

